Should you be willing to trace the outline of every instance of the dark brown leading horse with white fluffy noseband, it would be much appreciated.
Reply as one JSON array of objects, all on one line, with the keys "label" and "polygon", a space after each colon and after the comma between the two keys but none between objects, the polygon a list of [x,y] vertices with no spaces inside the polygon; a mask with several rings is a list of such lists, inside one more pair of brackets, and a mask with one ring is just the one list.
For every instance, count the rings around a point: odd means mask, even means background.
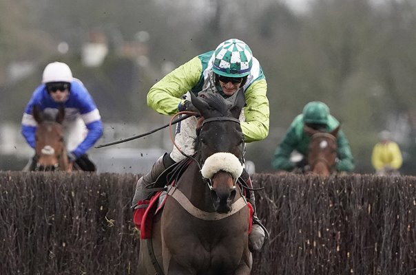
[{"label": "dark brown leading horse with white fluffy noseband", "polygon": [[138,274],[250,274],[249,207],[236,184],[245,151],[238,121],[245,96],[239,92],[232,107],[221,96],[193,96],[192,103],[204,118],[196,155],[167,193],[152,239],[141,240]]}]

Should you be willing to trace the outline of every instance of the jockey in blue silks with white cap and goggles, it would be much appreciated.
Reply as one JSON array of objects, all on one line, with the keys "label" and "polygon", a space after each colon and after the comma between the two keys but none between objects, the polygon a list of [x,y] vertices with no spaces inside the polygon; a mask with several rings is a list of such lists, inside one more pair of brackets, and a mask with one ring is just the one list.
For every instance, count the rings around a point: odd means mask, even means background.
[{"label": "jockey in blue silks with white cap and goggles", "polygon": [[[37,129],[37,122],[32,115],[34,104],[53,117],[63,104],[65,118],[62,125],[68,158],[83,170],[96,170],[86,152],[103,135],[101,116],[81,80],[72,77],[68,65],[60,62],[49,63],[43,70],[42,84],[34,90],[26,105],[21,120],[21,133],[32,148],[35,146]],[[30,159],[25,170],[30,170],[34,164],[34,159]]]}]

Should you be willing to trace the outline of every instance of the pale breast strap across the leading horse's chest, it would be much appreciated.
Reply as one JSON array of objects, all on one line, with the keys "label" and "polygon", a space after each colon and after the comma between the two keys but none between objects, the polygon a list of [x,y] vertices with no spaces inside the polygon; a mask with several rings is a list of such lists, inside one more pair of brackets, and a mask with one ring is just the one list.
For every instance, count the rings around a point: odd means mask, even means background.
[{"label": "pale breast strap across the leading horse's chest", "polygon": [[178,201],[180,206],[187,210],[189,214],[205,221],[218,221],[220,219],[225,219],[233,214],[236,214],[236,212],[247,206],[247,202],[245,201],[244,197],[240,197],[240,199],[234,201],[232,210],[228,213],[222,214],[218,212],[205,212],[199,208],[196,208],[183,194],[183,192],[174,186],[170,188],[169,192],[167,192],[167,195],[173,197],[176,201]]}]

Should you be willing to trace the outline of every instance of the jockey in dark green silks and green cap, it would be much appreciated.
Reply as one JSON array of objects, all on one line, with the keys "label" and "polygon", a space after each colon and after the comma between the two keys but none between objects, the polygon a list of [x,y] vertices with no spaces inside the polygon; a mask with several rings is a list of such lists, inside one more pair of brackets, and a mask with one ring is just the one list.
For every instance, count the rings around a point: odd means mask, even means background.
[{"label": "jockey in dark green silks and green cap", "polygon": [[[271,166],[276,170],[291,171],[295,168],[304,169],[307,165],[307,153],[310,137],[304,131],[304,125],[312,129],[331,132],[340,125],[333,115],[329,113],[329,107],[323,102],[313,101],[305,105],[303,112],[297,115],[291,123],[289,130],[284,135],[282,142],[276,148],[271,161]],[[342,130],[337,134],[337,164],[338,171],[351,171],[354,169],[354,159],[351,148]],[[297,151],[302,159],[297,162],[291,159],[291,154]]]}]

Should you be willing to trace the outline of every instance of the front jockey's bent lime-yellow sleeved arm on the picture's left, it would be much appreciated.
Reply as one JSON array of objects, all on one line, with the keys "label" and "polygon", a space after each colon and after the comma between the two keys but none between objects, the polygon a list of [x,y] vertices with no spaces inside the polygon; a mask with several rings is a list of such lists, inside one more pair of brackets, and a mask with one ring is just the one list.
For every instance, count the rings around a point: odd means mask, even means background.
[{"label": "front jockey's bent lime-yellow sleeved arm on the picture's left", "polygon": [[150,88],[147,94],[147,105],[164,115],[178,113],[178,104],[187,91],[194,87],[202,72],[202,63],[197,57],[174,69]]}]

